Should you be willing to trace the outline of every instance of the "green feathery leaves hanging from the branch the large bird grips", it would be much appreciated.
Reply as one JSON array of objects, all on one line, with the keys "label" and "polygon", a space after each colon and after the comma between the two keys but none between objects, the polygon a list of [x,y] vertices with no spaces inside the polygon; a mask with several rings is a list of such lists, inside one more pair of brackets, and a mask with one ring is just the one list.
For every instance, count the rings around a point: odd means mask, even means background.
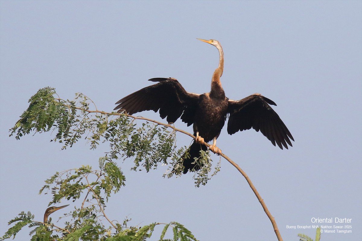
[{"label": "green feathery leaves hanging from the branch the large bird grips", "polygon": [[[80,138],[87,139],[90,149],[107,142],[110,151],[101,157],[104,162],[132,158],[134,167],[131,169],[134,171],[145,169],[149,172],[161,163],[168,165],[164,177],[181,175],[180,156],[186,149],[177,149],[176,131],[171,125],[161,126],[150,121],[138,124],[137,119],[144,118],[97,109],[91,111],[90,104],[96,107],[95,104],[81,93],[77,93],[72,101],[55,96],[55,89],[51,87],[40,89],[31,96],[28,109],[10,129],[10,136],[20,139],[30,132],[52,131],[56,135],[51,141],[63,143],[62,149],[72,147]],[[208,151],[202,151],[198,162],[203,163],[203,168],[194,175],[197,187],[206,185],[220,169],[217,165],[214,174],[209,177],[211,158]]]}]

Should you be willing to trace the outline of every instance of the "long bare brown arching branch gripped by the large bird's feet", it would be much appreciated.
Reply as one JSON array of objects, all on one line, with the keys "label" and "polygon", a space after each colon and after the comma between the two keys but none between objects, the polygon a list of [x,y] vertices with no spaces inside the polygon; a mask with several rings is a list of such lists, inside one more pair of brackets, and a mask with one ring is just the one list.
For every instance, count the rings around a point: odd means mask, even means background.
[{"label": "long bare brown arching branch gripped by the large bird's feet", "polygon": [[[89,113],[102,113],[102,114],[105,114],[105,115],[126,115],[128,117],[131,117],[135,120],[146,120],[146,121],[150,121],[150,122],[154,122],[156,124],[159,124],[159,125],[163,125],[163,126],[166,126],[166,127],[169,127],[169,128],[172,128],[174,131],[176,132],[181,132],[185,135],[188,135],[190,137],[192,137],[193,139],[195,139],[195,136],[188,133],[188,132],[185,132],[184,130],[181,130],[181,129],[178,129],[176,127],[174,127],[173,125],[170,125],[170,124],[165,124],[165,123],[162,123],[162,122],[159,122],[159,121],[156,121],[156,120],[152,120],[152,119],[148,119],[148,118],[145,118],[145,117],[142,117],[142,116],[132,116],[132,115],[128,115],[127,113],[115,113],[115,112],[112,112],[112,113],[109,113],[109,112],[104,112],[104,111],[90,111],[90,110],[84,110],[82,108],[79,108],[79,107],[75,107],[76,109],[79,109],[79,110],[83,110],[83,111],[86,111],[86,112],[89,112]],[[210,145],[208,143],[205,142],[205,145],[207,147],[209,147]],[[215,153],[215,152],[214,152]],[[215,153],[216,154],[216,153]],[[275,219],[274,217],[270,214],[269,210],[268,210],[268,207],[266,207],[266,204],[264,202],[264,200],[261,198],[261,195],[258,193],[258,191],[256,190],[255,186],[253,185],[252,181],[250,180],[250,178],[248,177],[248,175],[243,171],[243,169],[241,169],[239,167],[239,165],[237,165],[235,162],[233,162],[227,155],[225,154],[221,154],[221,156],[226,159],[228,162],[230,162],[240,173],[241,175],[244,176],[244,178],[247,180],[250,188],[253,190],[254,194],[256,195],[256,197],[258,198],[258,201],[260,202],[261,206],[263,207],[264,209],[264,212],[266,213],[266,215],[268,216],[268,218],[270,219],[271,221],[271,224],[273,225],[273,228],[274,228],[274,232],[275,234],[277,235],[277,238],[278,238],[278,241],[283,241],[283,238],[279,232],[279,229],[278,229],[278,226],[277,226],[277,223],[275,222]]]}]

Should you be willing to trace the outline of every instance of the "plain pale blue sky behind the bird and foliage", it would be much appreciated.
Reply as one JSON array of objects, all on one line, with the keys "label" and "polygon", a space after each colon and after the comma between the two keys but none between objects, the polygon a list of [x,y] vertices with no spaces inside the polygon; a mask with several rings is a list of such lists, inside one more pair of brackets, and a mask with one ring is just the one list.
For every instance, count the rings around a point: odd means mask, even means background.
[{"label": "plain pale blue sky behind the bird and foliage", "polygon": [[[208,92],[218,51],[196,40],[203,38],[223,46],[226,95],[270,98],[295,139],[289,150],[254,130],[230,136],[224,128],[218,139],[253,181],[284,240],[314,237],[314,229],[286,228],[312,225],[313,217],[352,218],[353,233],[323,233],[322,240],[361,240],[361,1],[2,0],[0,11],[1,236],[20,211],[42,220],[51,196],[37,193],[46,178],[85,164],[96,168],[108,150],[80,142],[61,151],[50,133],[9,138],[31,95],[46,86],[64,99],[83,92],[111,111],[153,77]],[[192,132],[181,121],[175,125]],[[191,139],[178,135],[177,141],[183,146]],[[164,179],[165,167],[146,173],[129,171],[132,160],[118,164],[127,181],[108,203],[110,219],[178,221],[201,241],[276,240],[244,177],[225,160],[201,188],[189,173]],[[16,240],[28,240],[28,233]]]}]

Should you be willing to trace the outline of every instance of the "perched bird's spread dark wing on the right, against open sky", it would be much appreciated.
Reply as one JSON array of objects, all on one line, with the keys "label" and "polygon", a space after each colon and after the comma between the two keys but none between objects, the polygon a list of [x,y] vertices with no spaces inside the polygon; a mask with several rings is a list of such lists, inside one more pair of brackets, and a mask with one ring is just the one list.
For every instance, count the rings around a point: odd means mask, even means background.
[{"label": "perched bird's spread dark wing on the right, against open sky", "polygon": [[269,106],[276,104],[260,95],[253,94],[241,100],[229,100],[228,113],[230,113],[227,132],[232,135],[239,130],[260,130],[266,138],[283,149],[288,149],[287,143],[292,146],[293,139],[288,128],[280,119],[278,114]]}]

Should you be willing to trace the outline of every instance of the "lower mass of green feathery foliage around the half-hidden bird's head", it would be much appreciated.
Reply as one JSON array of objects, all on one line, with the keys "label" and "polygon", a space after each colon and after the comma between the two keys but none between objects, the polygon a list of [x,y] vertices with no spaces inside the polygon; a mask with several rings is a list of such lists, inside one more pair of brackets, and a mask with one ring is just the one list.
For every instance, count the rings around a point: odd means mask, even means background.
[{"label": "lower mass of green feathery foliage around the half-hidden bird's head", "polygon": [[[177,222],[169,224],[152,223],[143,227],[127,227],[130,220],[125,220],[123,224],[111,221],[105,214],[106,201],[110,194],[117,193],[125,185],[125,177],[122,171],[113,162],[99,161],[101,170],[92,170],[89,166],[82,166],[63,172],[57,172],[46,180],[39,193],[51,191],[53,195],[51,204],[59,203],[66,199],[83,200],[79,208],[75,207],[72,212],[66,214],[71,216],[71,221],[65,222],[64,228],[55,227],[52,223],[43,223],[34,220],[34,215],[30,212],[21,212],[18,217],[9,221],[14,224],[5,233],[1,240],[15,237],[16,234],[26,225],[35,227],[30,232],[31,240],[130,240],[143,241],[150,238],[156,225],[165,225],[161,232],[162,240],[171,227],[174,241],[197,240],[191,232]],[[63,217],[64,218],[64,217]],[[106,227],[104,220],[109,225]],[[50,219],[51,221],[51,219]],[[56,232],[56,234],[53,234]],[[59,237],[60,235],[60,237]]]}]

